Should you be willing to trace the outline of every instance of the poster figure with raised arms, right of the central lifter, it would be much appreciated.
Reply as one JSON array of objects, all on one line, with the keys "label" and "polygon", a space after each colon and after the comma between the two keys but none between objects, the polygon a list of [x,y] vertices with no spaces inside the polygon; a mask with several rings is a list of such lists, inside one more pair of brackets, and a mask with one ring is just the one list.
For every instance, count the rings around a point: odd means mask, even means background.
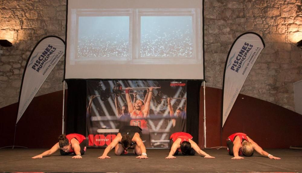
[{"label": "poster figure with raised arms, right of the central lifter", "polygon": [[174,115],[174,110],[171,104],[171,98],[168,97],[167,101],[168,101],[168,108],[169,108],[169,112],[170,112],[170,116],[172,119],[172,123],[173,123],[173,128],[170,132],[170,135],[172,133],[175,132],[184,132],[186,129],[186,112],[187,112],[187,100],[186,100],[186,104],[185,104],[185,110],[183,110],[181,107],[179,107],[176,110],[176,115]]}]

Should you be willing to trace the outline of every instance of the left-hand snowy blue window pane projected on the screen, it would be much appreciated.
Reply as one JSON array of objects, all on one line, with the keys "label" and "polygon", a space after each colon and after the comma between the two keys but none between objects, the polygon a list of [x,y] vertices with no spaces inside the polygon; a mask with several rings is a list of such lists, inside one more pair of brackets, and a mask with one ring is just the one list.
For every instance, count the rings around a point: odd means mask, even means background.
[{"label": "left-hand snowy blue window pane projected on the screen", "polygon": [[129,57],[129,17],[79,17],[77,59]]}]

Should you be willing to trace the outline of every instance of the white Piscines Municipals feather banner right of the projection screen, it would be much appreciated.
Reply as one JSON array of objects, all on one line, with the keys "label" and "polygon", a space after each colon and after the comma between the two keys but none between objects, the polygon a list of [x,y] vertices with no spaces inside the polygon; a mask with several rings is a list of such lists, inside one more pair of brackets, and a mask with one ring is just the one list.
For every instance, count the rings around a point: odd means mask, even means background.
[{"label": "white Piscines Municipals feather banner right of the projection screen", "polygon": [[222,127],[264,47],[262,37],[253,32],[241,34],[231,46],[223,76]]}]

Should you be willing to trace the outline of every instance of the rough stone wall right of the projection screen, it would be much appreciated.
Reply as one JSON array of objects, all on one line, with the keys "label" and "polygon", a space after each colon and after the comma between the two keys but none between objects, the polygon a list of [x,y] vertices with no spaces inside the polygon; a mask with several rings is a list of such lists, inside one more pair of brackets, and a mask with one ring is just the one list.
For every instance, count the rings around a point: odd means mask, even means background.
[{"label": "rough stone wall right of the projection screen", "polygon": [[226,56],[245,32],[262,36],[265,48],[254,64],[241,94],[294,111],[293,83],[302,79],[301,1],[205,0],[206,86],[222,88]]}]

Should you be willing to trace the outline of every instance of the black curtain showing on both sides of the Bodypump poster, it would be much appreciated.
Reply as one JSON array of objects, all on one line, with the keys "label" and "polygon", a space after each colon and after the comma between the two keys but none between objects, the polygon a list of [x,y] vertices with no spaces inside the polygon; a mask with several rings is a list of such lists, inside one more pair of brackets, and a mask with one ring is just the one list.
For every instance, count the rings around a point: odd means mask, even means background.
[{"label": "black curtain showing on both sides of the Bodypump poster", "polygon": [[[199,92],[201,82],[189,80],[187,83],[187,133],[198,143]],[[67,79],[66,134],[86,135],[86,80]]]}]

